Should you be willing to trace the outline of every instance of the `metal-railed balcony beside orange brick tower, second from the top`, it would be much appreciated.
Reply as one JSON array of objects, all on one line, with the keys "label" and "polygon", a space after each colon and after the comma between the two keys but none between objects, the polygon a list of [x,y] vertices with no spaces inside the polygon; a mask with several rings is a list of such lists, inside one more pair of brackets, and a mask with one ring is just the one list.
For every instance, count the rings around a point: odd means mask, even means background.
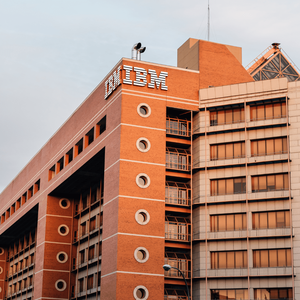
[{"label": "metal-railed balcony beside orange brick tower, second from the top", "polygon": [[166,147],[166,168],[190,171],[191,153],[190,150]]}]

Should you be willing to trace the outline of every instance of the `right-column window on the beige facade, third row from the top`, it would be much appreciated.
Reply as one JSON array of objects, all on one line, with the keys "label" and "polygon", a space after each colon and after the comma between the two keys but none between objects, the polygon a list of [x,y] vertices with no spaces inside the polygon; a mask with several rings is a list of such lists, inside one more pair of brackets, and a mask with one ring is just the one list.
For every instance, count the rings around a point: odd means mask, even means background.
[{"label": "right-column window on the beige facade, third row from the top", "polygon": [[251,176],[252,193],[268,190],[288,190],[289,174]]}]

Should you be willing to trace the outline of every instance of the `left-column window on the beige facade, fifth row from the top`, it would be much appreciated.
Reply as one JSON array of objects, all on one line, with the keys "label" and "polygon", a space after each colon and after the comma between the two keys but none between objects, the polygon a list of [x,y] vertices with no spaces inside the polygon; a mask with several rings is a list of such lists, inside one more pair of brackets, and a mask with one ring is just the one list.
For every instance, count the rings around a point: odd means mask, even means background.
[{"label": "left-column window on the beige facade, fifth row from the top", "polygon": [[247,251],[211,252],[211,269],[247,268]]}]

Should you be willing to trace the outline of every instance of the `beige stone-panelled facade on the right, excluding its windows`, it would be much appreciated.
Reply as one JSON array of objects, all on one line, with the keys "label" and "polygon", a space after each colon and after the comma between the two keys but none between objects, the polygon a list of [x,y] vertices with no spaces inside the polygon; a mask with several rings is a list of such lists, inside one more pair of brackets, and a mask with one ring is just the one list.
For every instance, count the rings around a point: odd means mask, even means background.
[{"label": "beige stone-panelled facade on the right, excluding its windows", "polygon": [[[277,119],[251,121],[250,106],[253,104],[268,104],[276,99],[285,102],[286,98],[287,118],[286,113],[282,113],[283,116]],[[211,291],[214,289],[245,289],[249,299],[255,299],[255,289],[294,288],[295,298],[299,297],[299,103],[300,82],[287,82],[286,78],[199,90],[201,111],[193,119],[193,133],[198,135],[193,140],[194,299],[212,299]],[[246,121],[211,125],[211,111],[238,106],[246,108]],[[251,155],[251,141],[287,136],[289,154]],[[246,143],[246,158],[212,160],[211,145],[238,141]],[[253,176],[289,171],[290,188],[262,192],[251,190]],[[246,192],[211,195],[211,180],[235,177],[246,177]],[[291,225],[282,228],[254,228],[253,214],[268,211],[291,213]],[[226,231],[211,228],[212,216],[241,213],[247,217],[247,228]],[[254,250],[290,251],[291,248],[293,256],[289,266],[260,268],[253,264]],[[248,266],[219,269],[211,266],[212,252],[238,250],[247,252]]]}]

